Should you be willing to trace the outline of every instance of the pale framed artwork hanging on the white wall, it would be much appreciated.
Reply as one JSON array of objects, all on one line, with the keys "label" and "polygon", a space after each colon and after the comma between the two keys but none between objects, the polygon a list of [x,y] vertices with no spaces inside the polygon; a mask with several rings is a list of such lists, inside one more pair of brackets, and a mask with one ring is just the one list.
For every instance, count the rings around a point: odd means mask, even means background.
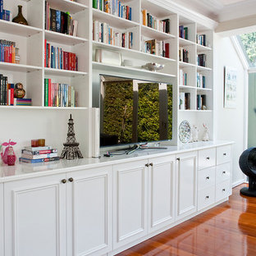
[{"label": "pale framed artwork hanging on the white wall", "polygon": [[233,67],[224,67],[224,107],[236,107],[236,84],[237,84],[237,71]]}]

